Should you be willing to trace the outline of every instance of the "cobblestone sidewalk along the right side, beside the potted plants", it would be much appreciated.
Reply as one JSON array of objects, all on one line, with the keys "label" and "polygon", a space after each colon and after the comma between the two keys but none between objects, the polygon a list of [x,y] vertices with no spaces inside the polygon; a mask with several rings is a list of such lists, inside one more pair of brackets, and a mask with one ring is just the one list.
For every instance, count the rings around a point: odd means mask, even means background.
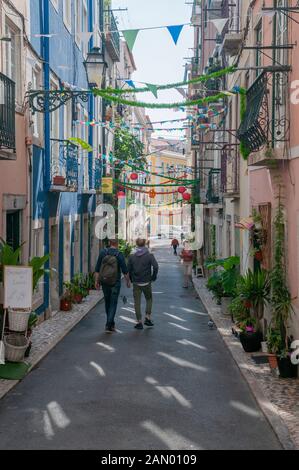
[{"label": "cobblestone sidewalk along the right side, beside the potted plants", "polygon": [[230,317],[223,316],[205,287],[206,280],[193,278],[195,290],[248,382],[255,399],[285,449],[299,449],[299,379],[280,379],[268,364],[257,365],[232,334]]}]

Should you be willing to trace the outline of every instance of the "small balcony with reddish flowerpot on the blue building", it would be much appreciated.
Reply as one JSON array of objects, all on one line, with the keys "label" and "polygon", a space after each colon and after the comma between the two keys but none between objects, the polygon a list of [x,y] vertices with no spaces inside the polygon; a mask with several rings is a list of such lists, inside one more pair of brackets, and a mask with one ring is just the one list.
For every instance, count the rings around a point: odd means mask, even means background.
[{"label": "small balcony with reddish flowerpot on the blue building", "polygon": [[79,147],[67,140],[51,139],[51,192],[77,192]]}]

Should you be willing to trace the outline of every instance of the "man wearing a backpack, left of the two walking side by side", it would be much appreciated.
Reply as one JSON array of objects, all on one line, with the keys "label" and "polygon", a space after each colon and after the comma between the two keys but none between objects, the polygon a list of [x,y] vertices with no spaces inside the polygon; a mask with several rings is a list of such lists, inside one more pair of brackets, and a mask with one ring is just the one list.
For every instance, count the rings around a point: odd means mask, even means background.
[{"label": "man wearing a backpack, left of the two walking side by side", "polygon": [[130,287],[129,272],[124,255],[118,250],[117,240],[110,240],[109,248],[101,250],[95,269],[97,289],[103,288],[107,315],[106,332],[115,331],[115,314],[121,288],[121,273]]}]

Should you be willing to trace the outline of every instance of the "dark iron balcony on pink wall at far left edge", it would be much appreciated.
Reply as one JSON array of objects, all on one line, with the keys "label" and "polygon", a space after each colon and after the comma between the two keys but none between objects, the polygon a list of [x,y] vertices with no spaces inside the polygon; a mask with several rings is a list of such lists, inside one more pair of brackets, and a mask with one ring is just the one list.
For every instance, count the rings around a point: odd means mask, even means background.
[{"label": "dark iron balcony on pink wall at far left edge", "polygon": [[15,83],[0,73],[0,160],[15,159]]}]

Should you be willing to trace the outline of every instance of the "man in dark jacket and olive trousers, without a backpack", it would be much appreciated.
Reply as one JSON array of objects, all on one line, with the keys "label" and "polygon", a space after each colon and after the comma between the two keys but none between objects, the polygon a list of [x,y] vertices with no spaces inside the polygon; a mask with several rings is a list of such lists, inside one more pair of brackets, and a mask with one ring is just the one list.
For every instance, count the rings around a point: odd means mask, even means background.
[{"label": "man in dark jacket and olive trousers, without a backpack", "polygon": [[141,296],[144,294],[146,300],[146,314],[144,324],[154,326],[151,315],[153,305],[152,282],[157,279],[159,265],[156,258],[145,246],[146,240],[138,238],[136,241],[137,250],[129,257],[128,269],[130,279],[133,283],[133,295],[135,303],[135,313],[137,330],[143,329],[141,313]]}]

